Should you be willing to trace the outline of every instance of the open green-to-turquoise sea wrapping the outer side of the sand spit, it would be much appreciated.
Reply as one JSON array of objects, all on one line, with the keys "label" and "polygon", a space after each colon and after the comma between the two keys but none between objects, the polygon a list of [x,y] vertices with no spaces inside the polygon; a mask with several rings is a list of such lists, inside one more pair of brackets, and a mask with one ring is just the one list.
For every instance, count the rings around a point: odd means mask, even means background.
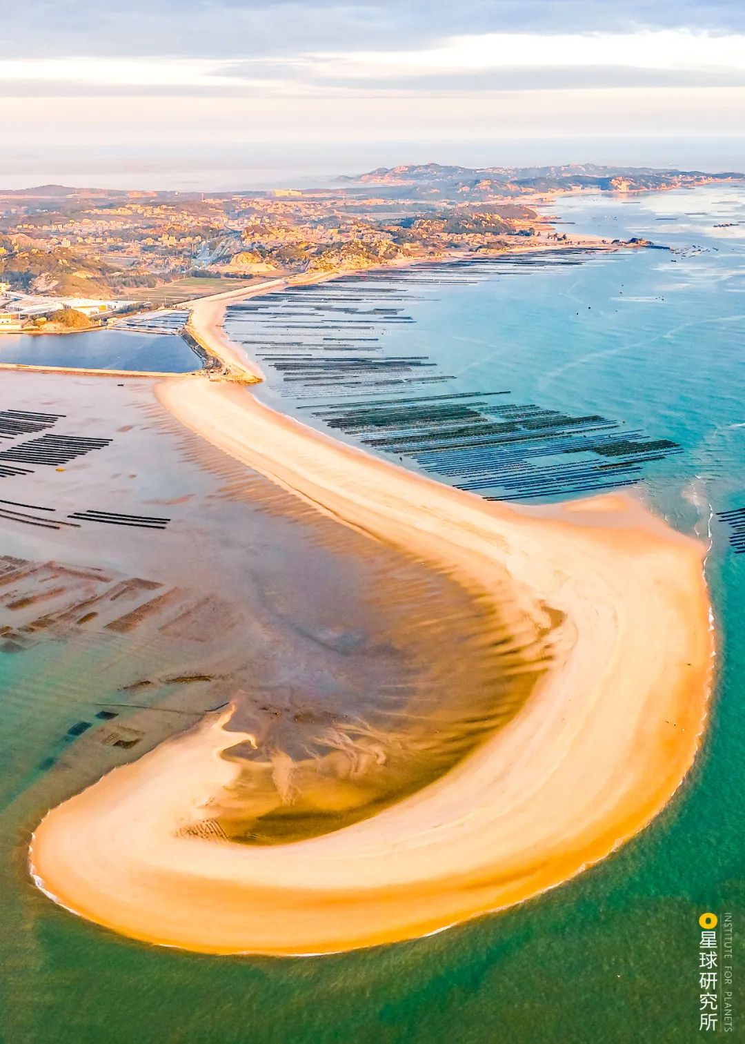
[{"label": "open green-to-turquoise sea wrapping the outer side of the sand spit", "polygon": [[745,506],[745,223],[715,228],[745,222],[745,191],[586,197],[560,211],[576,229],[646,235],[683,253],[439,287],[388,347],[426,350],[457,374],[455,388],[509,388],[683,447],[651,465],[641,485],[672,524],[711,530],[718,683],[683,785],[648,829],[575,880],[429,939],[305,959],[145,947],[70,916],[25,873],[27,832],[45,800],[58,800],[45,794],[38,766],[69,723],[63,696],[82,701],[81,716],[89,697],[67,678],[54,698],[40,697],[32,683],[47,669],[44,645],[0,656],[0,688],[10,694],[0,699],[4,1042],[694,1042],[706,1036],[704,910],[732,914],[729,1040],[745,1040],[745,554],[710,519]]}]

